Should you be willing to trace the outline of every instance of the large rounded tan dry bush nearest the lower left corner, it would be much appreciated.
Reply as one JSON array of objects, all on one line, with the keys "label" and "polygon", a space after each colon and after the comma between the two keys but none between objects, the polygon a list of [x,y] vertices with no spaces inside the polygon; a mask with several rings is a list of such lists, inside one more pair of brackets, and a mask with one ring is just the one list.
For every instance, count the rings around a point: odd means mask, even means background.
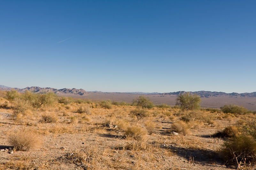
[{"label": "large rounded tan dry bush nearest the lower left corner", "polygon": [[41,137],[32,131],[17,131],[8,138],[8,142],[16,151],[28,151],[41,146]]}]

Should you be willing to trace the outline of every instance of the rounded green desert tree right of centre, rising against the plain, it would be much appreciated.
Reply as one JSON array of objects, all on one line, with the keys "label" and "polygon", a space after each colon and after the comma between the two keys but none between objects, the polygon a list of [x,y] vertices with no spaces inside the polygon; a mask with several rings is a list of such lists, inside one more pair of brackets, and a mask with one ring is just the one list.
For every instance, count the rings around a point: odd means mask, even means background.
[{"label": "rounded green desert tree right of centre, rising against the plain", "polygon": [[180,94],[176,98],[176,105],[180,106],[182,110],[200,109],[201,98],[197,94],[186,92]]}]

